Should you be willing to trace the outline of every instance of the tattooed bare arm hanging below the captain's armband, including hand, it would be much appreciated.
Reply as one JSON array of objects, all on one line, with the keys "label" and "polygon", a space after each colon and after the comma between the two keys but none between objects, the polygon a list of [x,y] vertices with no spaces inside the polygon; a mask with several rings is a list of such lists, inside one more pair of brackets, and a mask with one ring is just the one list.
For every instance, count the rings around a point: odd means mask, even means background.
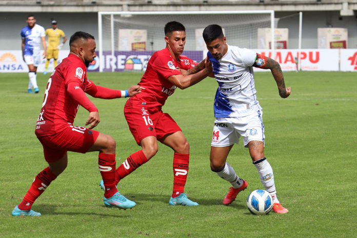
[{"label": "tattooed bare arm hanging below the captain's armband, including hand", "polygon": [[273,74],[274,80],[277,85],[277,89],[279,90],[279,95],[283,98],[288,97],[290,95],[291,88],[285,87],[284,75],[280,67],[280,64],[274,61],[272,58],[267,57],[266,64],[263,67],[263,69],[271,70],[271,73]]}]

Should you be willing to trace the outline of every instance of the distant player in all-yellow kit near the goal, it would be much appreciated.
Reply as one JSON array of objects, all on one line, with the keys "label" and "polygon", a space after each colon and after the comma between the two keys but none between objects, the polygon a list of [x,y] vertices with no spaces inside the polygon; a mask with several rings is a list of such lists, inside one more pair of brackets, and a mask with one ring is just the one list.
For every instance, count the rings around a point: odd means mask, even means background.
[{"label": "distant player in all-yellow kit near the goal", "polygon": [[[49,28],[45,31],[45,34],[48,35],[48,48],[47,48],[47,61],[45,64],[45,72],[47,73],[48,65],[51,58],[53,58],[53,67],[57,65],[58,51],[62,48],[63,44],[66,43],[67,37],[63,30],[57,28],[57,21],[52,21],[52,28]],[[63,37],[63,43],[60,44],[60,39]]]}]

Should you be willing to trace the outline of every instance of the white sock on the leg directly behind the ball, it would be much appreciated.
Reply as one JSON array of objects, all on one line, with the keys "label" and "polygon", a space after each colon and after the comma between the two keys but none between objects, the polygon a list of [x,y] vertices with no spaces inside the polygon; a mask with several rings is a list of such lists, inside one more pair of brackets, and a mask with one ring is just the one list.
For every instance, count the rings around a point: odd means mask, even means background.
[{"label": "white sock on the leg directly behind the ball", "polygon": [[276,197],[273,169],[267,159],[265,157],[261,158],[260,160],[254,161],[253,164],[259,173],[259,177],[265,190],[267,190],[273,197],[273,203],[280,203]]}]

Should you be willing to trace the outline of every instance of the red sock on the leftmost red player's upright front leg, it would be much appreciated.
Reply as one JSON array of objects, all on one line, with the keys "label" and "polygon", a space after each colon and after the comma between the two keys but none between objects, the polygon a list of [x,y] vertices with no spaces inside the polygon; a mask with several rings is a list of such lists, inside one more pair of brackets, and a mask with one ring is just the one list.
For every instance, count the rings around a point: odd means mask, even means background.
[{"label": "red sock on the leftmost red player's upright front leg", "polygon": [[98,165],[104,182],[104,196],[108,199],[118,191],[115,187],[115,154],[99,153]]}]

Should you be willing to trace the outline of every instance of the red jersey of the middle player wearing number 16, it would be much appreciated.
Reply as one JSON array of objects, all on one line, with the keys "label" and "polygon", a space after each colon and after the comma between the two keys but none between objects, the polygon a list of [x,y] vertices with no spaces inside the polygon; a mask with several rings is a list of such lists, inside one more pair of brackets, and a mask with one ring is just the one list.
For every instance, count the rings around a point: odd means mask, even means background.
[{"label": "red jersey of the middle player wearing number 16", "polygon": [[131,97],[129,100],[148,102],[146,106],[163,106],[168,96],[172,95],[176,86],[167,78],[172,75],[181,74],[176,69],[191,69],[197,63],[186,56],[178,56],[179,61],[171,55],[168,48],[156,51],[150,58],[146,71],[138,85],[145,88],[141,93]]}]

